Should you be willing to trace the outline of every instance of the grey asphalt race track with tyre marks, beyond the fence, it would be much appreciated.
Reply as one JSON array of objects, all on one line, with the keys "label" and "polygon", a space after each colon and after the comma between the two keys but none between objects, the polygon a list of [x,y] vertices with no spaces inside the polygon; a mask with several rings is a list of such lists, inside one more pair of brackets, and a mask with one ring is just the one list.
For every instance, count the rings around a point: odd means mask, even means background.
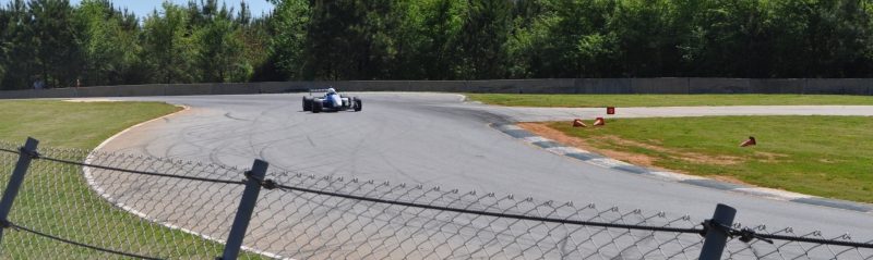
[{"label": "grey asphalt race track with tyre marks, beyond the fence", "polygon": [[[301,111],[302,95],[118,98],[166,101],[191,109],[144,124],[103,151],[271,171],[355,176],[461,190],[513,194],[622,210],[711,216],[716,203],[738,209],[736,222],[792,226],[873,238],[873,215],[666,182],[587,164],[518,141],[494,123],[570,120],[603,109],[502,108],[451,94],[359,94],[362,112]],[[873,115],[873,107],[786,106],[619,108],[617,117],[705,115]]]}]

